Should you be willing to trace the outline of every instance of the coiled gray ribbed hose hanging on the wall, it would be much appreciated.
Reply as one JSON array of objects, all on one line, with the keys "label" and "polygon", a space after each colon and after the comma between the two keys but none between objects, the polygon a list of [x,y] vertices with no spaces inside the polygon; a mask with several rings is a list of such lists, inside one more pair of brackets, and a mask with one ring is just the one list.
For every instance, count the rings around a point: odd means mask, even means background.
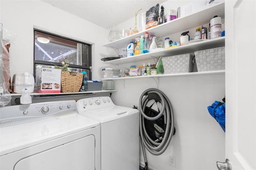
[{"label": "coiled gray ribbed hose hanging on the wall", "polygon": [[[148,117],[144,113],[146,105],[148,101],[150,101],[148,99],[148,95],[150,93],[155,93],[160,97],[160,100],[161,100],[160,103],[162,104],[162,109],[156,117]],[[169,99],[166,97],[164,93],[162,93],[162,91],[158,89],[147,89],[140,96],[139,111],[140,111],[140,138],[142,140],[142,146],[146,147],[148,152],[150,152],[153,155],[162,154],[168,147],[174,132],[174,114],[173,114],[172,105]],[[155,142],[150,138],[150,136],[146,131],[144,119],[147,119],[149,121],[154,121],[159,119],[162,115],[164,115],[164,123],[166,124],[164,137],[162,139],[162,142]]]}]

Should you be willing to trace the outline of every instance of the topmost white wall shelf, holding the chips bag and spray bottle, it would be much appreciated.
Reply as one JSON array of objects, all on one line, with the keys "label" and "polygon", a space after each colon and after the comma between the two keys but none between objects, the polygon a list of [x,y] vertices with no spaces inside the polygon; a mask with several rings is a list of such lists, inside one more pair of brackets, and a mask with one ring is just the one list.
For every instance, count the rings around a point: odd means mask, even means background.
[{"label": "topmost white wall shelf, holding the chips bag and spray bottle", "polygon": [[[209,23],[210,20],[212,19],[212,17],[215,15],[218,15],[221,18],[224,18],[224,16],[225,16],[224,2],[219,2],[215,6],[209,6],[208,8],[204,8],[203,10],[200,10],[194,14],[190,14],[188,16],[177,18],[170,22],[166,22],[164,24],[155,26],[148,30],[138,32],[131,36],[128,36],[128,37],[125,37],[125,38],[122,38],[119,40],[115,40],[113,42],[106,43],[103,46],[109,47],[109,48],[114,48],[114,49],[126,47],[129,42],[133,42],[136,37],[140,37],[140,35],[144,34],[145,32],[148,32],[149,34],[154,34],[156,37],[167,36],[170,34],[180,32],[182,30],[188,30],[190,28],[200,26],[204,23]],[[158,55],[158,56],[160,56],[160,55]],[[127,63],[128,62],[129,61],[127,61]],[[107,63],[107,62],[105,62],[105,63]]]}]

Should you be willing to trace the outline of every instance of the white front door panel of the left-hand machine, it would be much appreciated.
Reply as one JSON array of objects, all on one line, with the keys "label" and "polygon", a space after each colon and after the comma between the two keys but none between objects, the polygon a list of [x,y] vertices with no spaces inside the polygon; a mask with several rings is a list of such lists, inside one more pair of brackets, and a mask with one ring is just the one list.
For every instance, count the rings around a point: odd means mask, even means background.
[{"label": "white front door panel of the left-hand machine", "polygon": [[14,170],[94,170],[94,136],[89,135],[19,160]]}]

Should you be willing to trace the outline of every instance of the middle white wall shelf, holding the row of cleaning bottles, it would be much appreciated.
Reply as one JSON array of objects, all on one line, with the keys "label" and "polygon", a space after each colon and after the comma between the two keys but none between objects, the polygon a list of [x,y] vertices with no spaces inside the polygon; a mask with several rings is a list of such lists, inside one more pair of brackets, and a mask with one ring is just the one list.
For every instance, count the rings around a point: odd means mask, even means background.
[{"label": "middle white wall shelf, holding the row of cleaning bottles", "polygon": [[149,53],[134,55],[132,57],[124,57],[120,59],[104,61],[104,63],[111,63],[111,64],[133,63],[138,61],[145,61],[147,59],[152,59],[152,57],[153,58],[158,58],[159,56],[166,57],[171,55],[191,53],[191,52],[200,51],[203,49],[223,47],[223,46],[225,46],[225,37],[220,37],[220,38],[214,38],[212,40],[193,42],[187,45],[177,46],[169,49],[163,49],[161,51],[153,51]]}]

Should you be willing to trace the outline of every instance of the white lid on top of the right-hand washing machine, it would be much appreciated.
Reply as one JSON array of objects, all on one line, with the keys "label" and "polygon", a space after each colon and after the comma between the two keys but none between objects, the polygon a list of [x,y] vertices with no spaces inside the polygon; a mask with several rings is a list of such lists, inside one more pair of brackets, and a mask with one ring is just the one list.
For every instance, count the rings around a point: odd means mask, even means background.
[{"label": "white lid on top of the right-hand washing machine", "polygon": [[99,109],[92,109],[92,110],[80,110],[80,114],[91,119],[94,119],[100,123],[105,123],[109,121],[113,121],[116,119],[120,119],[122,117],[126,117],[129,115],[133,115],[138,113],[137,109],[129,108],[129,107],[122,107],[122,106],[109,106],[109,107],[102,107]]}]

